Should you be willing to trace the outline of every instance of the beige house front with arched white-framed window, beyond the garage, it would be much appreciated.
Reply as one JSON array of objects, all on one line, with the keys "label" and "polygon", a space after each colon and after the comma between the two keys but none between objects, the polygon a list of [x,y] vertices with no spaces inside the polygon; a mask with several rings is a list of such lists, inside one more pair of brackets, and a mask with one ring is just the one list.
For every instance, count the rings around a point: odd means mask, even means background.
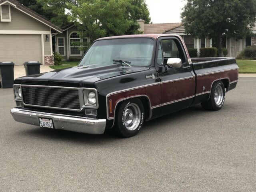
[{"label": "beige house front with arched white-framed window, beyond the garage", "polygon": [[81,59],[84,52],[73,42],[80,42],[82,46],[88,44],[89,38],[81,39],[74,23],[62,25],[60,28],[63,30],[62,34],[53,36],[54,52],[60,53],[64,60]]}]

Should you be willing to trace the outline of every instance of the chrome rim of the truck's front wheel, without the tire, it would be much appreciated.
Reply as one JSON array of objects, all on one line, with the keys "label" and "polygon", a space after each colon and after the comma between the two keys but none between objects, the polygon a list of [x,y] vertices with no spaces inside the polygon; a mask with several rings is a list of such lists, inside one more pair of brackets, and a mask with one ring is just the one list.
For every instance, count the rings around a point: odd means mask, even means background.
[{"label": "chrome rim of the truck's front wheel, without the tire", "polygon": [[140,124],[141,112],[140,107],[135,104],[129,104],[124,111],[124,126],[129,130],[135,130]]}]

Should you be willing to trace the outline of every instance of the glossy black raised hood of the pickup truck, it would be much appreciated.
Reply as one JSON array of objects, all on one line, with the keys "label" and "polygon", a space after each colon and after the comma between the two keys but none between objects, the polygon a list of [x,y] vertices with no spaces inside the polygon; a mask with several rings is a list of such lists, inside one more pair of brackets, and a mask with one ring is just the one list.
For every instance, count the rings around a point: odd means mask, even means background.
[{"label": "glossy black raised hood of the pickup truck", "polygon": [[[78,66],[67,68],[63,70],[55,70],[52,72],[41,73],[36,75],[24,76],[17,78],[15,83],[31,84],[32,82],[62,82],[62,83],[79,83],[80,86],[84,84],[94,84],[97,81],[107,78],[113,78],[125,74],[140,72],[148,70],[149,67],[128,67],[121,64],[104,66],[98,68],[88,68],[85,66]],[[41,84],[41,83],[40,83]]]}]

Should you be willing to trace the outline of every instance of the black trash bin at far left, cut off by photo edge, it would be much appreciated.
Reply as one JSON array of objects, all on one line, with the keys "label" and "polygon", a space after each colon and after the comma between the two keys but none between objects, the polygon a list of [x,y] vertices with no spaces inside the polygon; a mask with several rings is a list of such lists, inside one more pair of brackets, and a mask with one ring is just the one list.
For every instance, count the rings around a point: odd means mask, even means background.
[{"label": "black trash bin at far left, cut off by photo edge", "polygon": [[1,88],[12,88],[14,82],[14,63],[0,62]]}]

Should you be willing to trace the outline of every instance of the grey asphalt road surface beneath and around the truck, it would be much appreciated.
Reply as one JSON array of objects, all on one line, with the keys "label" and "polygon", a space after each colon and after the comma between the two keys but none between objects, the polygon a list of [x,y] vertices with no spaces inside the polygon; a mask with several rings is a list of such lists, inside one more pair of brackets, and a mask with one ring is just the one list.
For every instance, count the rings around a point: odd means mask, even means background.
[{"label": "grey asphalt road surface beneath and around the truck", "polygon": [[15,122],[0,90],[0,191],[256,191],[256,78],[218,112],[194,106],[138,136],[88,135]]}]

